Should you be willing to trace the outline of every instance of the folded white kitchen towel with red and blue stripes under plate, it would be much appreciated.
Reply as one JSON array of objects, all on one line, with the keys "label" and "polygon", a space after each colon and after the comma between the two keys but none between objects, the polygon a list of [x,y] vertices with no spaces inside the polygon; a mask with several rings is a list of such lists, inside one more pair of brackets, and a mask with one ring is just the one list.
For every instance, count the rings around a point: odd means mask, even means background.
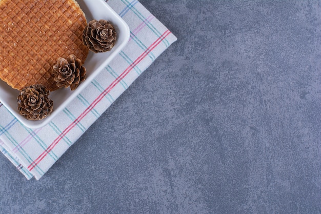
[{"label": "folded white kitchen towel with red and blue stripes under plate", "polygon": [[166,50],[176,37],[137,0],[109,0],[130,28],[114,60],[48,125],[30,129],[0,103],[0,150],[29,180],[40,179],[61,155]]}]

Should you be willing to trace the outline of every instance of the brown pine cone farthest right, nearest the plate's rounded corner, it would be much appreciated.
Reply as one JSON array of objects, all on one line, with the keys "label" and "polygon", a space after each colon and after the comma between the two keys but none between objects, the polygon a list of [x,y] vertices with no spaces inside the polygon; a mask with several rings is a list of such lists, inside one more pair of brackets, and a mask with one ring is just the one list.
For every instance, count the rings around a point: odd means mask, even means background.
[{"label": "brown pine cone farthest right, nearest the plate's rounded corner", "polygon": [[92,20],[85,27],[83,42],[94,53],[110,51],[115,44],[117,33],[106,20]]}]

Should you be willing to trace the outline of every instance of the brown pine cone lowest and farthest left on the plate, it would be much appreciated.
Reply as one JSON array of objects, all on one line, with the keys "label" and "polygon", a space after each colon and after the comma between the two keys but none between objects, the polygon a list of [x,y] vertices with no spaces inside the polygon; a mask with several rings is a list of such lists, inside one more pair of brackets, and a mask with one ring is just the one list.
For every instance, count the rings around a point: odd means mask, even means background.
[{"label": "brown pine cone lowest and farthest left on the plate", "polygon": [[24,87],[17,97],[19,113],[33,121],[46,118],[53,109],[48,95],[49,90],[42,85]]}]

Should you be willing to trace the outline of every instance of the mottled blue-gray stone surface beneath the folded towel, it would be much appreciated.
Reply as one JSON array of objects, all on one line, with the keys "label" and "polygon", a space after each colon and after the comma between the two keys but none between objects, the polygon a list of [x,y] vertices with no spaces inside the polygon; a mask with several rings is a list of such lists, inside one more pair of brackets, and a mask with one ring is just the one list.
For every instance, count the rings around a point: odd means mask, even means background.
[{"label": "mottled blue-gray stone surface beneath the folded towel", "polygon": [[0,213],[321,213],[321,5],[141,0],[178,38]]}]

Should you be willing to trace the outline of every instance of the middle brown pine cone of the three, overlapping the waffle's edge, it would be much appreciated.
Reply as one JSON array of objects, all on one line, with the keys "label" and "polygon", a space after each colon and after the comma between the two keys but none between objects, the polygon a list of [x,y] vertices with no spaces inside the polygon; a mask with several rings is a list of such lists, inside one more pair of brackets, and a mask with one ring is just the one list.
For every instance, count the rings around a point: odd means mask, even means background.
[{"label": "middle brown pine cone of the three, overlapping the waffle's edge", "polygon": [[71,90],[75,90],[86,78],[86,68],[82,66],[82,61],[73,54],[67,59],[59,57],[57,64],[52,68],[55,75],[54,81],[59,88],[70,86]]}]

